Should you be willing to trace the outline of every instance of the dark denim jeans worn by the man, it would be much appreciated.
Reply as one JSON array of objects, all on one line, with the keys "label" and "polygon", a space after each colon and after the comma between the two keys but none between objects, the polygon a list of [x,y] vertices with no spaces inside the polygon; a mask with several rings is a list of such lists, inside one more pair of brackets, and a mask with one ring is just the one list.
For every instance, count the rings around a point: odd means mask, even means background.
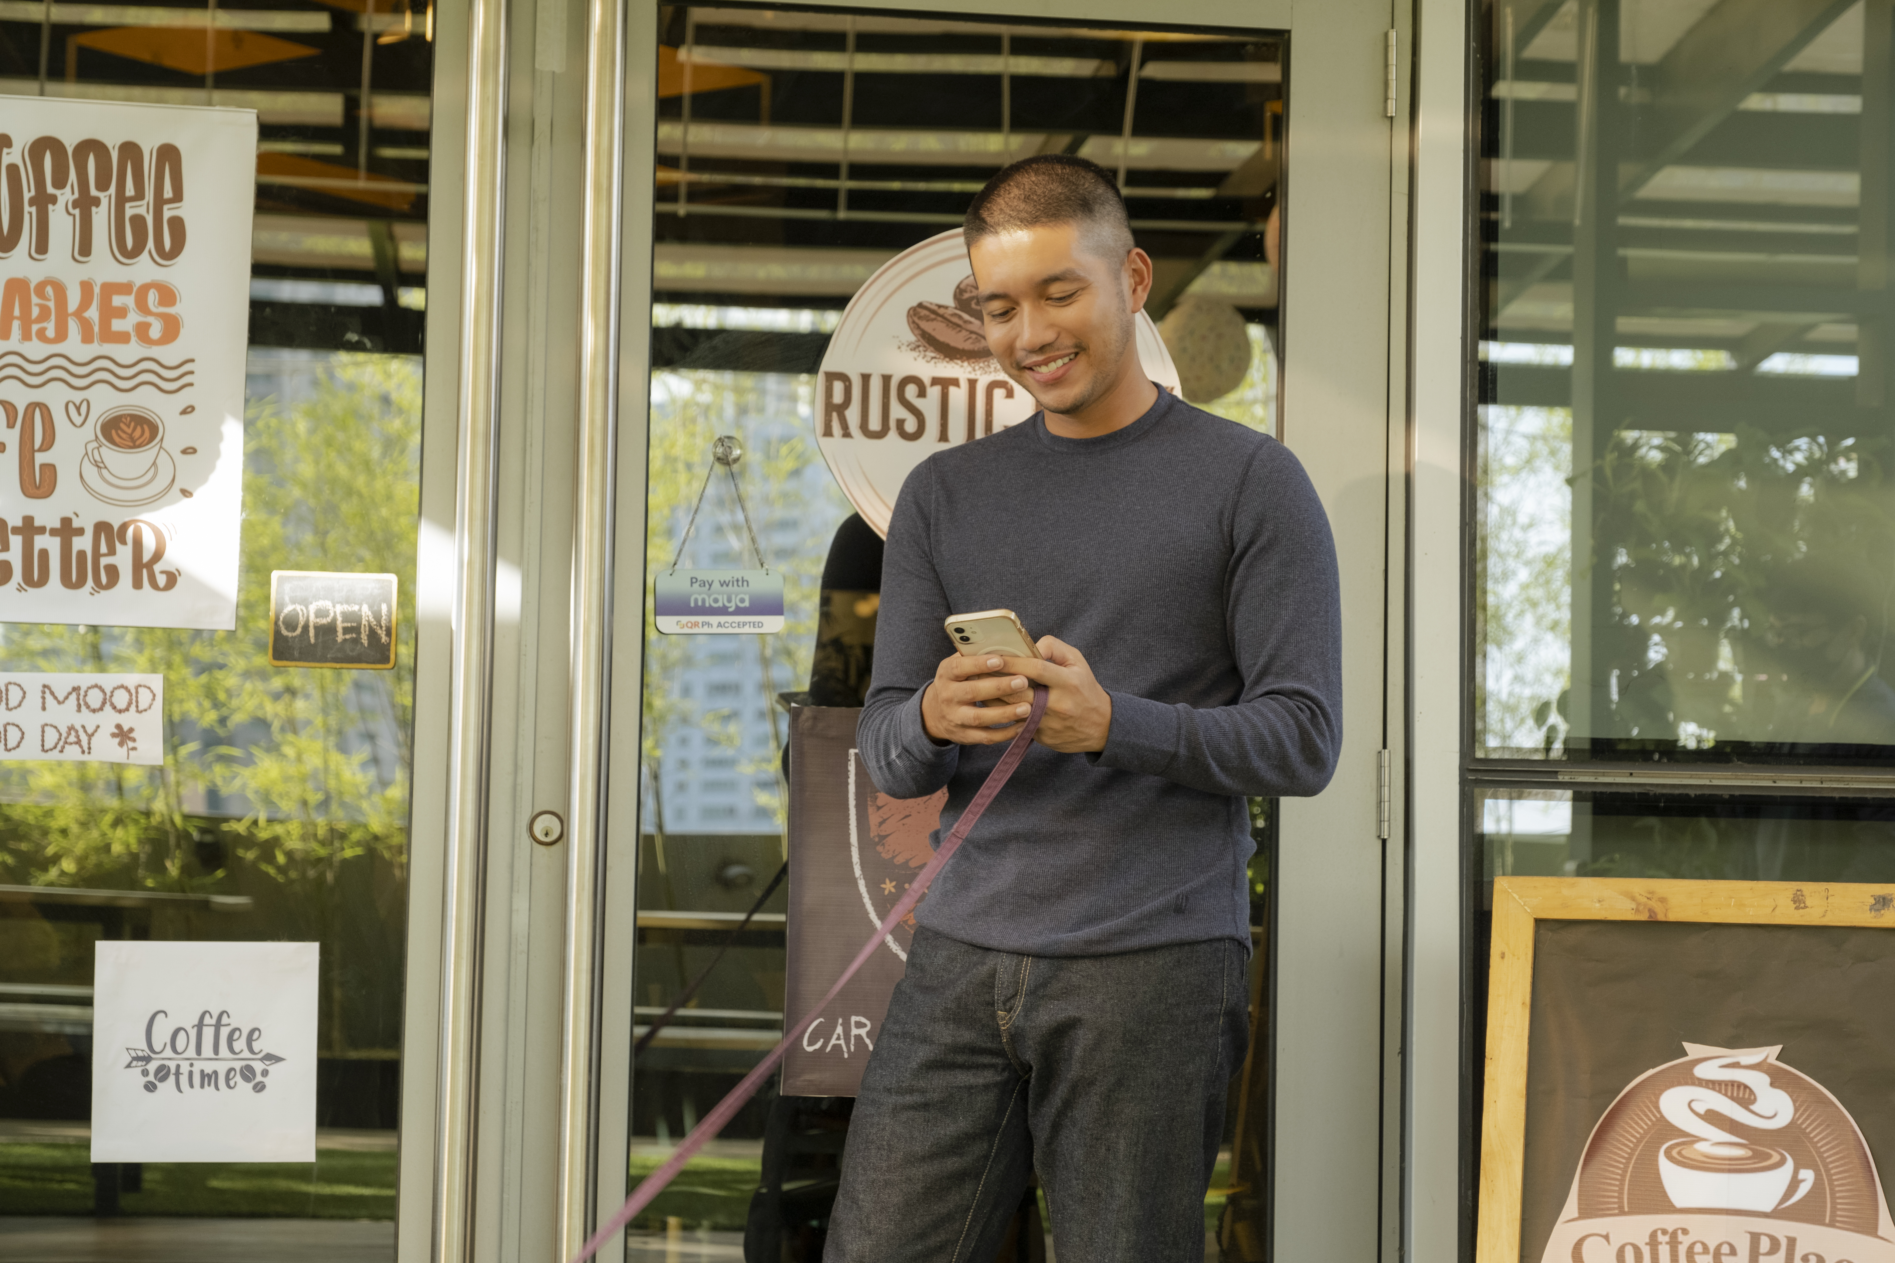
[{"label": "dark denim jeans worn by the man", "polygon": [[1018,956],[915,932],[849,1123],[826,1263],[987,1263],[1038,1170],[1059,1263],[1201,1263],[1236,939]]}]

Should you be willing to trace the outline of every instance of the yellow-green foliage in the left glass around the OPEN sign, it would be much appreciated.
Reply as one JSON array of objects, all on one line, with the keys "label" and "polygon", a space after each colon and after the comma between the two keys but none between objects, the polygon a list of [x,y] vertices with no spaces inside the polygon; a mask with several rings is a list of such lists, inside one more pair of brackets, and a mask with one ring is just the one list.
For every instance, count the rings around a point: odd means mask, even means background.
[{"label": "yellow-green foliage in the left glass around the OPEN sign", "polygon": [[[237,631],[9,625],[9,670],[165,676],[163,767],[0,767],[0,879],[25,884],[195,890],[190,863],[214,795],[241,797],[239,852],[292,886],[334,882],[343,860],[406,856],[413,725],[415,506],[421,367],[337,356],[315,398],[254,403],[244,443]],[[271,570],[400,576],[392,672],[269,665]],[[392,737],[392,774],[371,754]]]}]

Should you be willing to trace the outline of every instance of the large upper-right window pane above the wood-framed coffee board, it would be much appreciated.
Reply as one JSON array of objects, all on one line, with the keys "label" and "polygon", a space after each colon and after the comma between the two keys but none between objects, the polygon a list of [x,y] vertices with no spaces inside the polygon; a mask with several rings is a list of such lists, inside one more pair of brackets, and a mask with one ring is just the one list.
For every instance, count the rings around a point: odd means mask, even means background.
[{"label": "large upper-right window pane above the wood-framed coffee board", "polygon": [[1895,754],[1868,11],[1488,8],[1476,754]]}]

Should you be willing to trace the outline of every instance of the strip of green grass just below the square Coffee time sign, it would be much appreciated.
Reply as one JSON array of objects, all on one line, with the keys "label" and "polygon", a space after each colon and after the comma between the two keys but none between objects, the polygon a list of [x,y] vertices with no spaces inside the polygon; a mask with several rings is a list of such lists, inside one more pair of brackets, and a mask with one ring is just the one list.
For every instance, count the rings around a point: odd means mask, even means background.
[{"label": "strip of green grass just below the square Coffee time sign", "polygon": [[[316,1149],[315,1163],[144,1163],[144,1187],[119,1195],[127,1216],[218,1219],[392,1219],[396,1155]],[[0,1214],[89,1216],[91,1149],[0,1144]]]}]

